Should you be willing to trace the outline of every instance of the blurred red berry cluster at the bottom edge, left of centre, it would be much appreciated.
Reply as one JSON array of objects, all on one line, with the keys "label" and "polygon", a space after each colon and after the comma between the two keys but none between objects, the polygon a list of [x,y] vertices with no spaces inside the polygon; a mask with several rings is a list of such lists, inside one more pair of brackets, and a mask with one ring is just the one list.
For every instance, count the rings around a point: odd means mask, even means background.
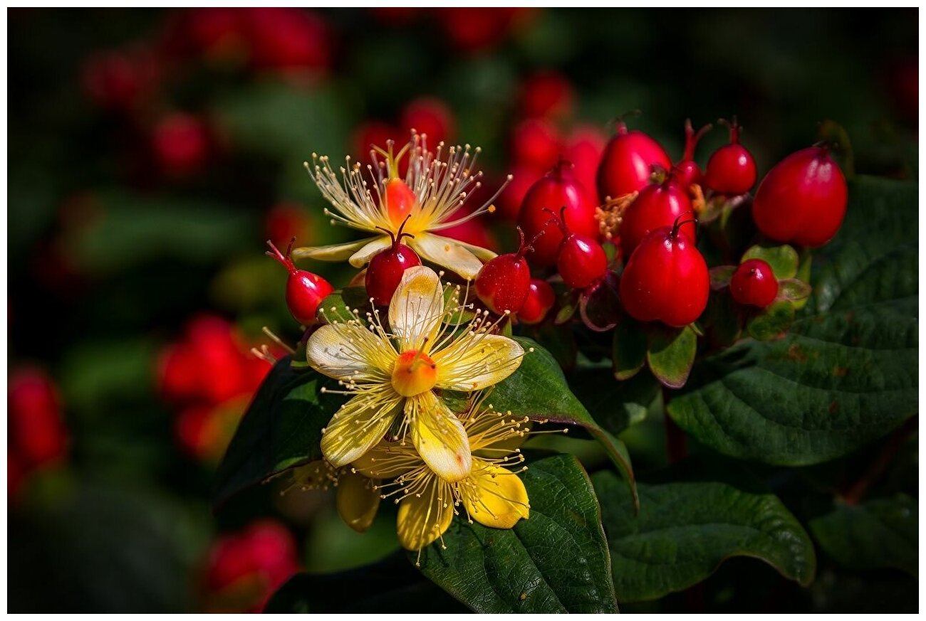
[{"label": "blurred red berry cluster at the bottom edge, left of centre", "polygon": [[293,533],[273,520],[257,521],[212,544],[201,582],[203,607],[209,613],[262,612],[297,571]]}]

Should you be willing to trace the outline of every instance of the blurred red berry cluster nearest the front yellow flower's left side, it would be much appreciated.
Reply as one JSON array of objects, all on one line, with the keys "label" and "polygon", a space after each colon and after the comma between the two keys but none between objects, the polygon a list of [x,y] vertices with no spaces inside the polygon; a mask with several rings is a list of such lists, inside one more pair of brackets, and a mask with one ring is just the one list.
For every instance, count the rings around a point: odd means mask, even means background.
[{"label": "blurred red berry cluster nearest the front yellow flower's left side", "polygon": [[177,438],[191,455],[218,461],[270,365],[257,359],[231,323],[202,316],[161,352],[160,393],[178,408]]}]

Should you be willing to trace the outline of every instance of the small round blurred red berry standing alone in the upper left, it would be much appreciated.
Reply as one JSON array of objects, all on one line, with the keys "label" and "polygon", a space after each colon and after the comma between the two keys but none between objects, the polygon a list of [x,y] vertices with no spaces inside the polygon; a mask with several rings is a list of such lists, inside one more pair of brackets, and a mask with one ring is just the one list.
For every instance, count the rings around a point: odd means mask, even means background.
[{"label": "small round blurred red berry standing alone in the upper left", "polygon": [[169,175],[189,175],[206,163],[209,138],[206,126],[192,115],[175,113],[154,130],[152,148],[157,164]]}]

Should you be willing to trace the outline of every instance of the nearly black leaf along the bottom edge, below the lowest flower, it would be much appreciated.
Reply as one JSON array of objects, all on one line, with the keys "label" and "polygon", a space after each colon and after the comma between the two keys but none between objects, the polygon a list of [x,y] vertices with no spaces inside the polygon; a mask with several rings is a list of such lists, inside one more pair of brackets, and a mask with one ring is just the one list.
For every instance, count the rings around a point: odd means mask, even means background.
[{"label": "nearly black leaf along the bottom edge, below the lowest flower", "polygon": [[296,574],[265,613],[463,613],[468,609],[421,577],[406,554],[331,574]]}]

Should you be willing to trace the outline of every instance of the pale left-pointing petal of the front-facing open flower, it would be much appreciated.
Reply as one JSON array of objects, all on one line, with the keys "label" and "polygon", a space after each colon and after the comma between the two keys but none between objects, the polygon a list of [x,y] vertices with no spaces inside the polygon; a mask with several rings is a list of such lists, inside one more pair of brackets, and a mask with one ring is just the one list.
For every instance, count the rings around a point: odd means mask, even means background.
[{"label": "pale left-pointing petal of the front-facing open flower", "polygon": [[309,365],[336,380],[388,383],[395,356],[388,341],[355,323],[322,325],[306,343]]}]

